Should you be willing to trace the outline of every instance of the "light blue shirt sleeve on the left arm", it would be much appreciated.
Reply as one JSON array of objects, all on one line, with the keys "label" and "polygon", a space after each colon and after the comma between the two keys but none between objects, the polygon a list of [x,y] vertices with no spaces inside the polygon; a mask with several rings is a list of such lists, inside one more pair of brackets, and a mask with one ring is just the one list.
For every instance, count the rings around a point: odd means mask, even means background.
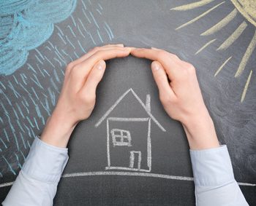
[{"label": "light blue shirt sleeve on the left arm", "polygon": [[67,160],[67,148],[50,146],[35,138],[26,162],[2,205],[53,205]]}]

